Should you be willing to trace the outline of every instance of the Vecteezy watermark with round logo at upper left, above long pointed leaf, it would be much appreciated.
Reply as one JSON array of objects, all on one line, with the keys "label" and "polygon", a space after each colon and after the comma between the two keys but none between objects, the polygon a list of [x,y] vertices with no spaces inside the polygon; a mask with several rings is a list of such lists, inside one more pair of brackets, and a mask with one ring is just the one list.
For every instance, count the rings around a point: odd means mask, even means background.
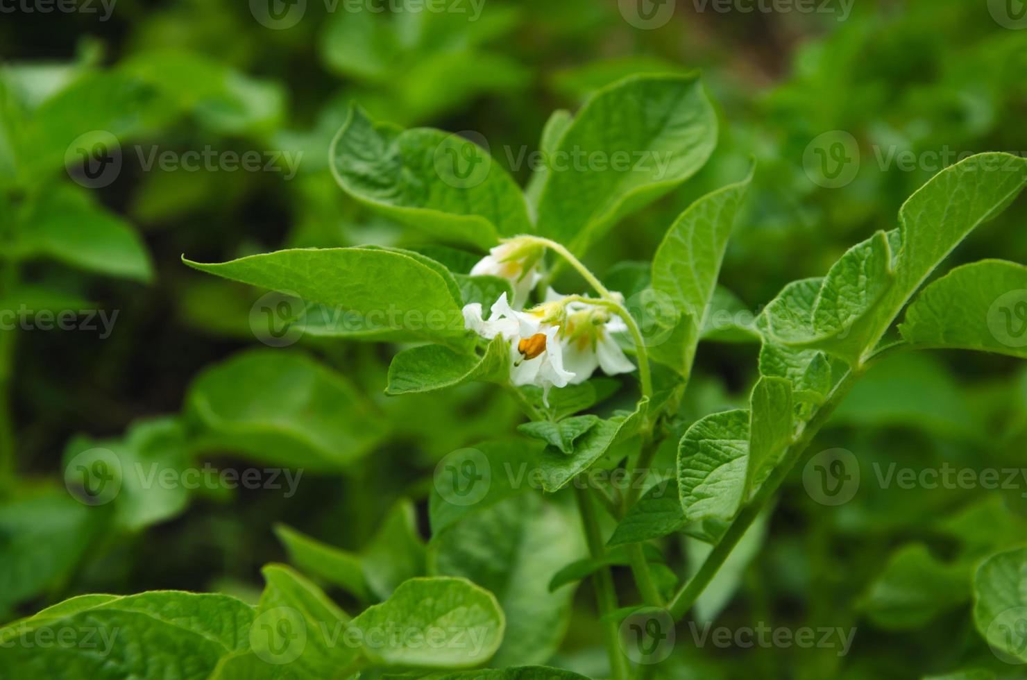
[{"label": "Vecteezy watermark with round logo at upper left, above long pointed leaf", "polygon": [[[303,151],[251,149],[248,151],[219,150],[210,144],[202,149],[177,151],[158,145],[129,147],[140,169],[150,173],[280,173],[292,180],[300,169]],[[131,157],[131,155],[129,157]],[[109,186],[121,174],[124,151],[117,137],[107,130],[91,130],[80,135],[65,151],[65,167],[78,184],[89,189]]]}]

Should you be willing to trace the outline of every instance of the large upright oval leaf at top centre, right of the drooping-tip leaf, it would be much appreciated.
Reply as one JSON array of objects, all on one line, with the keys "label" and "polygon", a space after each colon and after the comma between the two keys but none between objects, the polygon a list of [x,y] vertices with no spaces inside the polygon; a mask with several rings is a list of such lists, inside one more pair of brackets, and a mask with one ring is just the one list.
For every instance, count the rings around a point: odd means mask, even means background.
[{"label": "large upright oval leaf at top centre, right of the drooping-tip leaf", "polygon": [[[696,75],[634,76],[600,89],[550,157],[539,233],[584,252],[621,218],[698,172],[716,143],[717,118]],[[606,161],[582,165],[575,157]]]}]

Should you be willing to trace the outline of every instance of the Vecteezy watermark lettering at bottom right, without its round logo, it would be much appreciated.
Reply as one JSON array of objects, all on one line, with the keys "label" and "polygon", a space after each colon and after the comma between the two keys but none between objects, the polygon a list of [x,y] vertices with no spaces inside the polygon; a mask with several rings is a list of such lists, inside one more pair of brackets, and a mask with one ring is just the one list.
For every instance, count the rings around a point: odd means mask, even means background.
[{"label": "Vecteezy watermark lettering at bottom right, without its round logo", "polygon": [[799,647],[800,649],[836,649],[838,656],[845,656],[852,648],[855,639],[855,629],[840,627],[799,628],[767,626],[763,621],[756,626],[740,628],[714,627],[711,624],[699,626],[696,621],[688,622],[692,643],[696,647],[708,644],[719,649],[736,647],[751,649],[785,649]]}]

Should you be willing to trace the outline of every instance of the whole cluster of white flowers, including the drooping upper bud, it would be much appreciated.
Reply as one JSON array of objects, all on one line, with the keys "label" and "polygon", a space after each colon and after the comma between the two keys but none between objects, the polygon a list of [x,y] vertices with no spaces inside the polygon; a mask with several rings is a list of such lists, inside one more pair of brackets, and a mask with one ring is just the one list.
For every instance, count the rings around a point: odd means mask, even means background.
[{"label": "whole cluster of white flowers, including the drooping upper bud", "polygon": [[612,335],[627,327],[606,307],[548,289],[542,304],[523,309],[541,280],[540,262],[540,249],[515,240],[492,249],[471,270],[474,275],[501,276],[514,286],[514,303],[503,293],[488,319],[477,302],[463,308],[467,329],[509,342],[510,382],[541,387],[547,398],[551,387],[584,382],[598,368],[607,375],[634,371]]}]

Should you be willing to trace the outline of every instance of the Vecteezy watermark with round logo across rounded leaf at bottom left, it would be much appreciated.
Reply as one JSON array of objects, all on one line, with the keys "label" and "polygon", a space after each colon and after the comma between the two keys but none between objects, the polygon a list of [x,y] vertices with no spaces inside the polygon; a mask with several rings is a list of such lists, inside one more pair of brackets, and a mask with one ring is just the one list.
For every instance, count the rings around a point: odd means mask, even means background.
[{"label": "Vecteezy watermark with round logo across rounded leaf at bottom left", "polygon": [[366,627],[340,621],[311,625],[292,607],[274,607],[254,619],[250,648],[262,660],[277,666],[299,658],[311,640],[328,649],[449,649],[465,650],[468,658],[479,658],[491,633],[487,627],[412,626],[405,621]]}]

